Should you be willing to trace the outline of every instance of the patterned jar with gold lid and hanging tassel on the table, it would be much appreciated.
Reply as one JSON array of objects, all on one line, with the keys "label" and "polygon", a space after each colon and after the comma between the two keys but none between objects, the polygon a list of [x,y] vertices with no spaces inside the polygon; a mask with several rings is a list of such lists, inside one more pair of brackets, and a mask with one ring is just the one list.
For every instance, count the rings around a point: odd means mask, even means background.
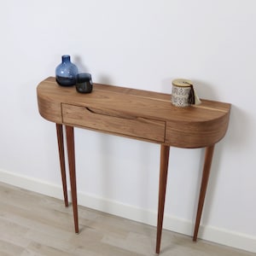
[{"label": "patterned jar with gold lid and hanging tassel on the table", "polygon": [[172,104],[176,107],[188,107],[191,104],[201,103],[195,96],[192,81],[175,79],[172,81]]}]

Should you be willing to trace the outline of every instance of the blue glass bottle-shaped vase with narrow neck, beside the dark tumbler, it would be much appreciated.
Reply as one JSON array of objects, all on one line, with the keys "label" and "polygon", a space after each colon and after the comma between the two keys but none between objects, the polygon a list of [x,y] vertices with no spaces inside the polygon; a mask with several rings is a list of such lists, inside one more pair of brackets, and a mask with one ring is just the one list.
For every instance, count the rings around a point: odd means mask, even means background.
[{"label": "blue glass bottle-shaped vase with narrow neck, beside the dark tumbler", "polygon": [[76,84],[79,69],[70,61],[70,55],[62,55],[62,62],[55,69],[56,82],[61,86]]}]

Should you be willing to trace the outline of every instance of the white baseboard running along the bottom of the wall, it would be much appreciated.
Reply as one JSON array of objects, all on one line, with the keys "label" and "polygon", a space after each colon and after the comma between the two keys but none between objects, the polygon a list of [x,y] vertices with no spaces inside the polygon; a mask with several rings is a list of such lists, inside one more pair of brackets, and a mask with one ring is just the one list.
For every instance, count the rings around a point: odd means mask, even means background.
[{"label": "white baseboard running along the bottom of the wall", "polygon": [[[32,190],[61,200],[63,199],[61,185],[45,183],[39,179],[20,176],[0,169],[0,182],[9,183],[22,189]],[[70,191],[68,194],[70,199]],[[122,218],[128,218],[144,224],[156,226],[157,212],[148,211],[146,209],[133,207],[118,201],[111,201],[106,198],[100,198],[95,195],[83,193],[78,193],[78,203],[84,207],[89,207],[101,212],[108,212]],[[176,218],[165,214],[163,227],[166,230],[172,230],[177,233],[192,236],[191,230],[193,230],[193,224],[191,221],[186,219]],[[203,240],[256,253],[255,236],[247,236],[246,234],[223,230],[212,226],[201,226],[198,237]]]}]

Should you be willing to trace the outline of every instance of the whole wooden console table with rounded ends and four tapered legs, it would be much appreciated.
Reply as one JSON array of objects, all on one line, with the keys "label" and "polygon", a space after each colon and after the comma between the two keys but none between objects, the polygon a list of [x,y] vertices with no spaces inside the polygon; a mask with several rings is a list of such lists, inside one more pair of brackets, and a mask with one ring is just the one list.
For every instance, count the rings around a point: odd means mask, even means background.
[{"label": "whole wooden console table with rounded ends and four tapered legs", "polygon": [[67,156],[73,202],[75,232],[79,233],[73,127],[106,132],[160,144],[159,207],[156,253],[160,253],[166,178],[170,146],[206,148],[201,191],[193,240],[196,241],[207,191],[215,143],[224,137],[230,117],[230,104],[201,100],[188,108],[172,106],[171,95],[107,84],[94,84],[90,94],[79,94],[74,87],[62,87],[50,77],[38,84],[39,113],[56,124],[61,177],[66,207],[67,181],[62,125],[66,125]]}]

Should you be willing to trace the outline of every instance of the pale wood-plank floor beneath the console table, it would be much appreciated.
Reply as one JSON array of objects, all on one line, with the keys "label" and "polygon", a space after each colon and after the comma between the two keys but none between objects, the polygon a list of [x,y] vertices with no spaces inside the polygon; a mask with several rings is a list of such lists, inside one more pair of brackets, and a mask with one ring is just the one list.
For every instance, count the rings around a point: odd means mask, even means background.
[{"label": "pale wood-plank floor beneath the console table", "polygon": [[[156,228],[79,207],[79,235],[73,231],[72,207],[45,195],[0,183],[0,255],[139,256],[155,255]],[[163,230],[165,256],[249,256],[230,247],[192,241]]]}]

